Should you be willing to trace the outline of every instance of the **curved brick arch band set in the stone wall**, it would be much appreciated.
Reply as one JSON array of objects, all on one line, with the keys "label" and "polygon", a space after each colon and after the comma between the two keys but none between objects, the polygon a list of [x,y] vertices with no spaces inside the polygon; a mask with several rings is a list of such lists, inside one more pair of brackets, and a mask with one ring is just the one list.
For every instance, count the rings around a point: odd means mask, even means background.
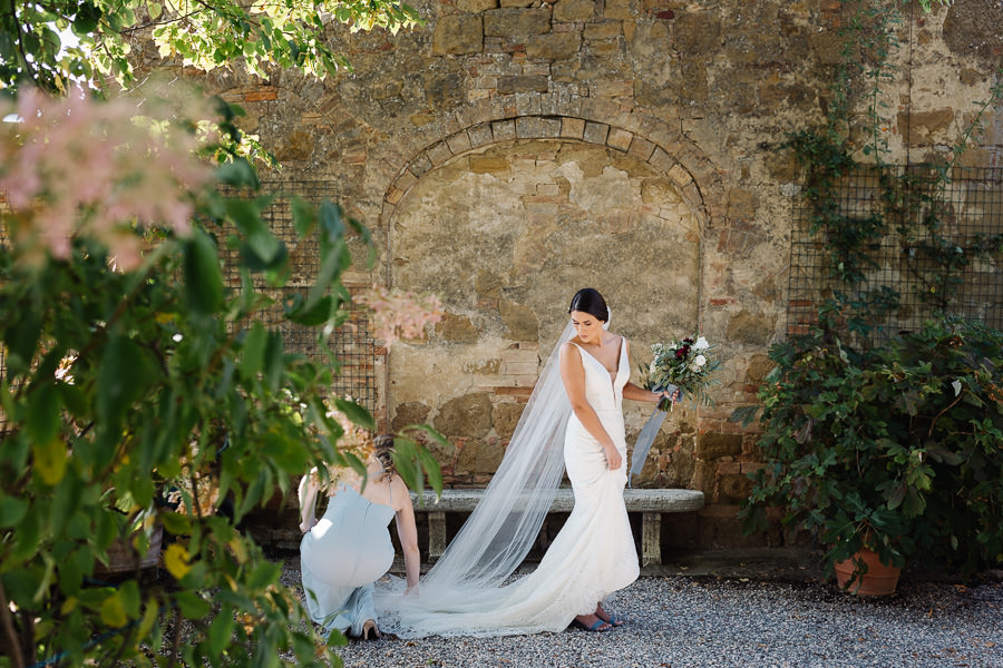
[{"label": "curved brick arch band set in the stone wall", "polygon": [[[466,125],[460,121],[471,116],[475,121]],[[413,137],[405,147],[388,149],[395,156],[387,155],[378,160],[386,165],[396,157],[398,165],[403,163],[389,183],[384,181],[379,215],[381,227],[393,218],[398,204],[427,173],[468,151],[517,139],[583,141],[620,150],[665,175],[697,215],[701,229],[722,213],[724,198],[720,174],[682,132],[660,119],[633,112],[614,114],[610,121],[584,112],[480,116],[457,112],[449,119],[452,122],[442,124],[451,126],[449,130],[435,128]],[[401,148],[405,151],[410,148],[410,157],[401,156]]]}]

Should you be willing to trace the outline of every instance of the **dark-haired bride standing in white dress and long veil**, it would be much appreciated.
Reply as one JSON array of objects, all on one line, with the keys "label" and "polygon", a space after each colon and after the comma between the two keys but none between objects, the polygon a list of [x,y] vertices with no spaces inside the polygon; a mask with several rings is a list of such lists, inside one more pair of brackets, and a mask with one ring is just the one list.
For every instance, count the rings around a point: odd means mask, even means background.
[{"label": "dark-haired bride standing in white dress and long veil", "polygon": [[[630,382],[626,340],[593,288],[572,299],[571,322],[474,513],[419,593],[380,597],[383,630],[401,637],[607,631],[622,620],[603,601],[633,582],[637,553],[623,502],[623,399],[679,400]],[[556,360],[555,360],[556,356]],[[525,558],[567,468],[575,507],[533,573],[506,583]]]}]

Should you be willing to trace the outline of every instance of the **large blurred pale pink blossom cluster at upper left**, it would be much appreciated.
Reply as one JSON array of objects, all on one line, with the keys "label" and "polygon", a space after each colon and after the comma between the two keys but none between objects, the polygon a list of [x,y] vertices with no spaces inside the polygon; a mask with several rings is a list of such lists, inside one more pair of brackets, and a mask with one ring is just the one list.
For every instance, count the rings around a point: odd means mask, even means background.
[{"label": "large blurred pale pink blossom cluster at upper left", "polygon": [[189,134],[144,126],[135,101],[98,102],[80,89],[25,89],[14,112],[19,122],[0,124],[0,196],[21,262],[66,259],[74,237],[90,236],[129,271],[142,263],[143,228],[191,233],[191,191],[211,171]]}]

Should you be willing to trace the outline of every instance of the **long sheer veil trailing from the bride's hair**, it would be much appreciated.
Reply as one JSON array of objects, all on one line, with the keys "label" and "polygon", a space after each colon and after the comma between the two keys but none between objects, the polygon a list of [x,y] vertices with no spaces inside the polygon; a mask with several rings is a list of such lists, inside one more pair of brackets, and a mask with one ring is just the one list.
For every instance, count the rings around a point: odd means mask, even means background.
[{"label": "long sheer veil trailing from the bride's hair", "polygon": [[[427,629],[464,633],[464,613],[490,609],[503,582],[536,539],[564,474],[564,434],[571,403],[559,370],[571,321],[544,364],[498,471],[442,557],[421,579],[418,595],[382,593],[380,626],[402,637]],[[451,627],[450,616],[457,626]]]}]

